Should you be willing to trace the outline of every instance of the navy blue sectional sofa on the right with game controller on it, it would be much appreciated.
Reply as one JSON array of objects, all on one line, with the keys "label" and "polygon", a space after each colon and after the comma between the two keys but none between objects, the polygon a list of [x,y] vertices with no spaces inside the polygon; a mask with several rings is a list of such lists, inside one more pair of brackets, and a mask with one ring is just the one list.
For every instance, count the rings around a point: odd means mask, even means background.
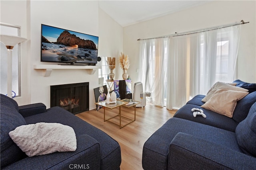
[{"label": "navy blue sectional sofa on the right with game controller on it", "polygon": [[[197,95],[181,107],[145,143],[145,170],[256,169],[256,84],[234,81],[249,90],[227,117],[201,107]],[[193,116],[202,109],[206,118]]]}]

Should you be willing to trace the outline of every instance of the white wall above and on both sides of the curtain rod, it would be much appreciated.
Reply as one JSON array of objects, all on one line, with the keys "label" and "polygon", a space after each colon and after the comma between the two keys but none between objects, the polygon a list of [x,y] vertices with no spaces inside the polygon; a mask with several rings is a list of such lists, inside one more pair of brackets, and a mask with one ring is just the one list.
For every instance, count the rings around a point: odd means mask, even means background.
[{"label": "white wall above and on both sides of the curtain rod", "polygon": [[127,73],[138,81],[139,41],[137,39],[170,35],[244,20],[238,52],[238,79],[256,82],[256,1],[213,1],[124,27],[124,53],[130,57]]}]

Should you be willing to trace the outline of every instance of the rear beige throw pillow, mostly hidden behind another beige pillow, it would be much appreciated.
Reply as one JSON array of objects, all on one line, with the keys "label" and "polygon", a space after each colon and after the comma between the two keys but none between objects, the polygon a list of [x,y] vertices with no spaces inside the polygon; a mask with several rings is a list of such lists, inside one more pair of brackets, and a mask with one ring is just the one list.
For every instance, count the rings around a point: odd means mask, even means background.
[{"label": "rear beige throw pillow, mostly hidden behind another beige pillow", "polygon": [[218,89],[224,89],[224,90],[234,90],[234,91],[240,91],[240,92],[248,92],[247,89],[236,87],[236,83],[224,83],[224,82],[216,82],[212,88],[208,91],[206,96],[202,99],[202,102],[207,102],[212,95],[216,92]]}]

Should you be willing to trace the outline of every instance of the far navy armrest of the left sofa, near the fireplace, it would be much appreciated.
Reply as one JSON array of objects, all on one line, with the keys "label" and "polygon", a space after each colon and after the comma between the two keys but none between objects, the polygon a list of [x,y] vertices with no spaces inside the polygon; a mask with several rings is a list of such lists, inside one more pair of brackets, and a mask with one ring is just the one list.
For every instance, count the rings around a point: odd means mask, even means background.
[{"label": "far navy armrest of the left sofa, near the fireplace", "polygon": [[36,114],[44,113],[44,112],[46,112],[46,106],[42,103],[19,106],[19,113],[23,117],[28,117],[31,115],[36,115]]}]

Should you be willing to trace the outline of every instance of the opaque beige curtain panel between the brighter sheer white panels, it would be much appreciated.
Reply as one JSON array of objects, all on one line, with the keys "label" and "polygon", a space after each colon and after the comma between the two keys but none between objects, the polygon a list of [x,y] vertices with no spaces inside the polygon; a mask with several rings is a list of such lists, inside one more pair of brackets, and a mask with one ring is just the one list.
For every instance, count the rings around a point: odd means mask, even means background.
[{"label": "opaque beige curtain panel between the brighter sheer white panels", "polygon": [[168,85],[167,103],[168,109],[180,108],[186,103],[189,87],[189,37],[182,35],[170,37],[168,59]]}]

